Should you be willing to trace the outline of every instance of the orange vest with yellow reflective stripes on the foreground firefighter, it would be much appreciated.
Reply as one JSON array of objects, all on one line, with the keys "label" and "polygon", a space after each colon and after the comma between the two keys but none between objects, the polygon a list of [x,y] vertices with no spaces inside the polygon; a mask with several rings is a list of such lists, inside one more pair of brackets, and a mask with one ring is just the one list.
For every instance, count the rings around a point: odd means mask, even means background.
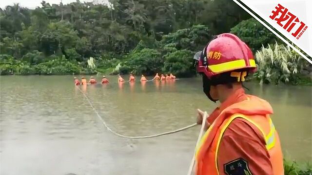
[{"label": "orange vest with yellow reflective stripes on the foreground firefighter", "polygon": [[246,120],[249,125],[254,125],[254,128],[262,133],[263,143],[266,144],[270,155],[273,175],[284,175],[280,140],[269,116],[273,113],[272,107],[258,97],[246,96],[247,100],[225,108],[202,137],[196,147],[196,175],[222,174],[223,170],[218,170],[217,165],[218,147],[226,128],[236,118]]}]

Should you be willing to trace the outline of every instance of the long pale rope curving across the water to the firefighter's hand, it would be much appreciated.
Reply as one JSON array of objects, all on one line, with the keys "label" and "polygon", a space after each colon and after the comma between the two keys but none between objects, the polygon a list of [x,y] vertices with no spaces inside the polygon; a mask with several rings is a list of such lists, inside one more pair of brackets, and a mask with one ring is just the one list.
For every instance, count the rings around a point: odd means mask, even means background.
[{"label": "long pale rope curving across the water to the firefighter's hand", "polygon": [[[179,131],[183,131],[183,130],[186,130],[186,129],[189,129],[191,127],[194,127],[197,125],[197,123],[194,123],[194,124],[191,124],[191,125],[188,125],[188,126],[185,126],[185,127],[182,127],[180,129],[176,129],[174,131],[170,131],[170,132],[165,132],[165,133],[160,133],[160,134],[155,134],[155,135],[151,135],[151,136],[124,136],[122,134],[119,134],[115,131],[113,131],[108,125],[107,123],[105,123],[105,121],[103,120],[103,118],[98,114],[98,111],[95,109],[95,107],[92,105],[90,99],[87,97],[87,95],[80,89],[80,92],[84,95],[84,97],[87,99],[87,101],[89,102],[90,106],[92,107],[92,109],[94,110],[94,112],[97,114],[98,116],[98,119],[104,124],[104,126],[107,128],[107,130],[109,130],[110,132],[112,132],[113,134],[119,136],[119,137],[123,137],[123,138],[128,138],[128,139],[147,139],[147,138],[154,138],[154,137],[158,137],[158,136],[163,136],[163,135],[167,135],[167,134],[173,134],[173,133],[176,133],[176,132],[179,132]],[[198,142],[198,141],[197,141]]]}]

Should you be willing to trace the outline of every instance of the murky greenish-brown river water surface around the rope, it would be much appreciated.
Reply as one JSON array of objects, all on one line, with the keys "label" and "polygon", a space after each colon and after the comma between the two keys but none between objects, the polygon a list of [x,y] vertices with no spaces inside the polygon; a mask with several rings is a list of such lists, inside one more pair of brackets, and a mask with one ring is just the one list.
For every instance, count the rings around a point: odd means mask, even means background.
[{"label": "murky greenish-brown river water surface around the rope", "polygon": [[[205,97],[200,78],[144,86],[109,79],[81,88],[106,123],[128,136],[184,127],[195,123],[196,108],[217,105]],[[247,87],[272,104],[284,155],[311,160],[312,88]],[[73,76],[1,76],[0,109],[1,175],[185,175],[200,129],[119,138],[105,129]]]}]

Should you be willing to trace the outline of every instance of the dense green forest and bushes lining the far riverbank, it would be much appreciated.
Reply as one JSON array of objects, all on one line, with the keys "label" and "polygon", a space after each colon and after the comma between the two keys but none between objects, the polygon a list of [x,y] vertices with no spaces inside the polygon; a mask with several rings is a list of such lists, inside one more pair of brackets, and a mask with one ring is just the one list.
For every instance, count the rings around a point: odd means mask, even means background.
[{"label": "dense green forest and bushes lining the far riverbank", "polygon": [[33,10],[6,6],[0,9],[0,74],[170,72],[190,77],[194,54],[225,32],[241,37],[258,55],[255,77],[261,83],[298,84],[307,62],[231,0],[42,1]]}]

